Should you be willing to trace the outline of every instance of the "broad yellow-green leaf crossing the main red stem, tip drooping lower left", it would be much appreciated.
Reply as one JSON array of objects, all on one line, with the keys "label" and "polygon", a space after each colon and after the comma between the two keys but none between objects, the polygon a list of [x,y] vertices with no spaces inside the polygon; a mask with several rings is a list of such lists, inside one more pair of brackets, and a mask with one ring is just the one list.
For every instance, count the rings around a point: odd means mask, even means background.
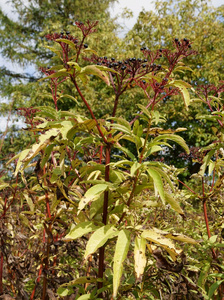
[{"label": "broad yellow-green leaf crossing the main red stem, tip drooping lower left", "polygon": [[108,239],[114,238],[117,236],[119,231],[111,225],[105,225],[99,229],[97,229],[90,237],[87,245],[84,258],[96,252],[96,250],[102,247]]}]

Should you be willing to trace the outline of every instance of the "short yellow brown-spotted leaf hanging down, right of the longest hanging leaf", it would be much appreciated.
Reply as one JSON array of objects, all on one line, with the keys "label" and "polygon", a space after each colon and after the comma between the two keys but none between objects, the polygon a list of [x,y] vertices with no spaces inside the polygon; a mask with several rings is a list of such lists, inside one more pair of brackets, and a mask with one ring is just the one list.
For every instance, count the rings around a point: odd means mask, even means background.
[{"label": "short yellow brown-spotted leaf hanging down, right of the longest hanging leaf", "polygon": [[142,275],[146,266],[146,239],[143,237],[136,236],[135,238],[135,249],[134,249],[134,259],[135,259],[135,274],[137,280],[142,280]]}]

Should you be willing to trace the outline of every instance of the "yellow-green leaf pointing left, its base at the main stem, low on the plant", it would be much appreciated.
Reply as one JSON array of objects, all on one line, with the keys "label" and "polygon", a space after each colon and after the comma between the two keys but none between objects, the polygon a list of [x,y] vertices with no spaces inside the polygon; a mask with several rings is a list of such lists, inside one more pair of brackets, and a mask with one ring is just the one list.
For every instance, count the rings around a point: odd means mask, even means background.
[{"label": "yellow-green leaf pointing left, its base at the main stem, low on the plant", "polygon": [[64,241],[76,240],[79,237],[98,229],[100,226],[95,225],[93,221],[81,222],[72,226],[69,233],[63,238]]}]

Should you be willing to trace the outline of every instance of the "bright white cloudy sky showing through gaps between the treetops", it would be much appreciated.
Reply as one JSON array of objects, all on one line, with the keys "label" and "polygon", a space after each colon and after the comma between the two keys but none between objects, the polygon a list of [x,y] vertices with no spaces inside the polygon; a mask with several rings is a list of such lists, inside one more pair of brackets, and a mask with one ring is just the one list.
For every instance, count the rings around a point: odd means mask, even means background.
[{"label": "bright white cloudy sky showing through gaps between the treetops", "polygon": [[[28,3],[28,0],[23,0],[23,2]],[[218,7],[222,4],[224,4],[224,0],[211,0],[211,4],[214,7]],[[12,11],[12,7],[10,6],[8,0],[0,0],[0,7],[3,9],[7,15],[13,19],[16,19],[15,13]],[[124,19],[121,17],[122,11],[124,8],[128,8],[133,12],[133,17],[130,19]],[[110,8],[110,13],[112,17],[120,16],[118,18],[118,22],[121,23],[124,26],[124,30],[120,33],[121,36],[124,36],[125,33],[127,33],[135,24],[137,17],[142,11],[142,9],[147,10],[153,10],[153,3],[152,0],[119,0],[118,3],[115,3]],[[18,65],[12,64],[10,61],[6,61],[0,56],[0,66],[7,65],[7,67],[16,72],[29,72],[29,69],[23,70]],[[0,105],[1,102],[4,101],[4,99],[0,98]],[[7,117],[0,117],[0,130],[4,131],[6,128],[6,120]]]}]

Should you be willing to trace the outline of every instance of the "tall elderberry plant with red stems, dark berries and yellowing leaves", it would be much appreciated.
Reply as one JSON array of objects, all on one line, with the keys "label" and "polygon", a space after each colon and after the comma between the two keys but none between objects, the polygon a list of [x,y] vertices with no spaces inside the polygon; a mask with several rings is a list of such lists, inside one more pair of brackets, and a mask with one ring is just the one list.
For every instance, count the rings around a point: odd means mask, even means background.
[{"label": "tall elderberry plant with red stems, dark berries and yellowing leaves", "polygon": [[[177,177],[170,166],[154,158],[171,147],[170,142],[189,153],[183,138],[176,134],[185,128],[163,130],[159,126],[166,120],[157,108],[167,97],[181,94],[188,109],[191,86],[176,79],[175,72],[186,69],[182,60],[195,51],[187,39],[175,39],[173,50],[152,52],[141,48],[142,58],[99,57],[86,43],[89,34],[96,31],[97,22],[76,25],[82,32],[81,39],[70,32],[46,36],[54,42],[48,49],[60,60],[59,65],[42,68],[46,75],[42,80],[50,82],[55,108],[33,108],[35,117],[29,131],[35,132],[36,143],[14,157],[18,160],[15,175],[21,174],[28,190],[24,201],[31,214],[38,212],[38,230],[44,232],[37,277],[37,283],[42,280],[42,299],[47,288],[52,287],[52,276],[62,277],[63,272],[57,270],[62,259],[60,246],[71,241],[77,242],[83,264],[71,272],[73,278],[67,278],[58,294],[66,296],[76,289],[76,299],[84,299],[84,294],[85,299],[112,299],[117,297],[119,287],[120,295],[126,293],[121,282],[127,259],[134,259],[131,272],[136,282],[132,285],[141,283],[143,287],[150,256],[159,260],[163,251],[172,260],[172,270],[183,268],[183,251],[174,240],[196,244],[186,235],[165,231],[162,224],[155,227],[154,218],[155,207],[166,209],[167,205],[184,218],[176,197]],[[161,58],[162,65],[158,63]],[[84,96],[83,90],[93,76],[103,80],[114,93],[113,109],[107,118],[97,119]],[[59,86],[68,82],[76,93],[59,93]],[[126,120],[117,116],[117,108],[121,95],[134,87],[144,92],[146,102],[138,104],[136,114]],[[86,108],[85,116],[78,110],[60,111],[57,103],[63,96],[74,100],[77,106],[81,102]],[[125,146],[126,141],[134,151]],[[34,170],[31,177],[27,177],[27,170]],[[25,213],[21,215],[24,217]],[[142,288],[137,293],[141,297]]]}]

